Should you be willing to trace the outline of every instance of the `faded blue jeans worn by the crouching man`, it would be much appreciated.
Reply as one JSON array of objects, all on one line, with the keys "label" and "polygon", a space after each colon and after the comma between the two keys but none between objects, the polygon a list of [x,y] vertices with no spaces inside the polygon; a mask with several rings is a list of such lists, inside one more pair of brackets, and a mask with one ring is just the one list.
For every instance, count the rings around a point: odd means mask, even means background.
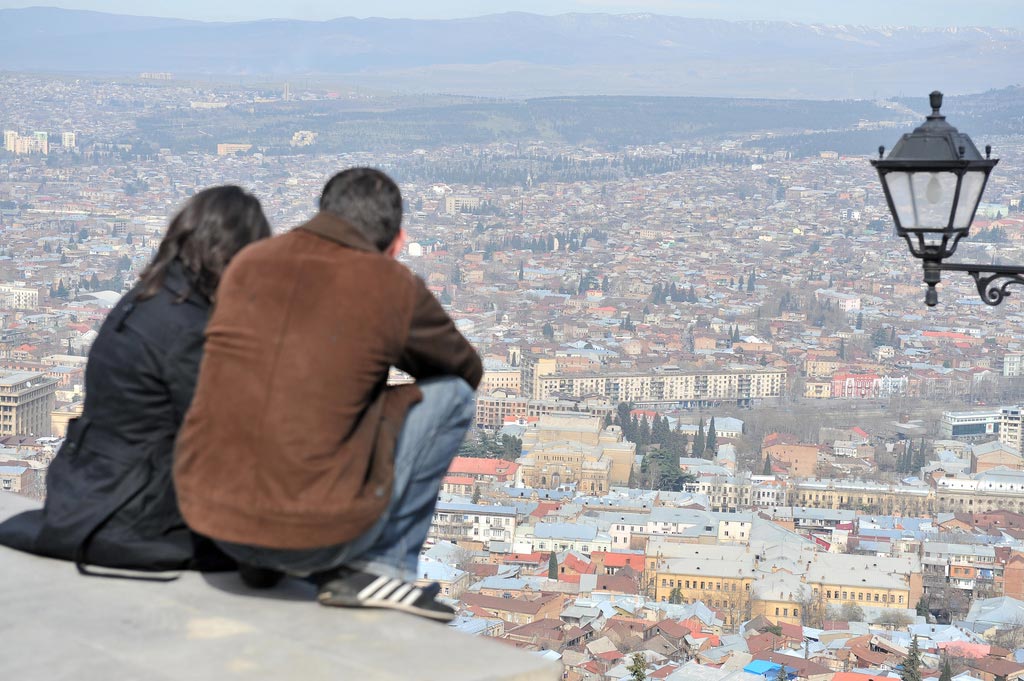
[{"label": "faded blue jeans worn by the crouching man", "polygon": [[217,545],[241,563],[290,574],[304,577],[346,565],[415,581],[441,479],[475,416],[473,389],[461,378],[433,378],[417,385],[423,399],[409,411],[398,435],[391,502],[370,529],[344,544],[314,549]]}]

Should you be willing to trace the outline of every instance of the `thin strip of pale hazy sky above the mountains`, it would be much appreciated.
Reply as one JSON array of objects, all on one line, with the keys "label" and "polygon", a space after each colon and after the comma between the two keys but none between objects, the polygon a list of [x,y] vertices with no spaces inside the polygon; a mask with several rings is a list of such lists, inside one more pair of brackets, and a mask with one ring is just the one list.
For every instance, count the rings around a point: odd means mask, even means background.
[{"label": "thin strip of pale hazy sky above the mountains", "polygon": [[[651,12],[722,19],[777,19],[868,26],[987,26],[1024,29],[1022,0],[58,0],[58,7],[203,20],[338,16],[455,18],[505,11]],[[0,9],[26,7],[0,0]]]}]

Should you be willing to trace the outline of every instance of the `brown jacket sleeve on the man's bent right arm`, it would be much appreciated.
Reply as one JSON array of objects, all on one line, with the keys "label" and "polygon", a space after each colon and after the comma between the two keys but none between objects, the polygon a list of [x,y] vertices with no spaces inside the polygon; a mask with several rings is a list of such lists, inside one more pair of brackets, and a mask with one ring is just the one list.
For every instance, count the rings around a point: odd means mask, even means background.
[{"label": "brown jacket sleeve on the man's bent right arm", "polygon": [[414,378],[461,376],[475,390],[483,377],[480,356],[423,280],[417,276],[414,281],[409,336],[395,366]]}]

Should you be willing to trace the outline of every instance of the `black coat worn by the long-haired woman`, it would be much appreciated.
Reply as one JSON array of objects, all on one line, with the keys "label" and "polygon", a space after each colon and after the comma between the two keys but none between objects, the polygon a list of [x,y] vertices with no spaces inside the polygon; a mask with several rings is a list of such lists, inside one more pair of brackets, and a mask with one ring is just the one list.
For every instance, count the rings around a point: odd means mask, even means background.
[{"label": "black coat worn by the long-haired woman", "polygon": [[210,301],[174,262],[152,298],[126,294],[85,369],[85,408],[47,472],[43,509],[0,524],[0,544],[85,564],[141,570],[230,567],[181,518],[174,438],[191,401]]}]

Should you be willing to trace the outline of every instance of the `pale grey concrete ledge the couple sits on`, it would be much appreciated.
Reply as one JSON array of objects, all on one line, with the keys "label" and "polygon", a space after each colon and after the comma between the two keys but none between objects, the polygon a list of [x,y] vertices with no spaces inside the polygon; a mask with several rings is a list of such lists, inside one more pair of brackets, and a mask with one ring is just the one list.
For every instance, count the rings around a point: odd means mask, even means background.
[{"label": "pale grey concrete ledge the couple sits on", "polygon": [[[0,493],[0,519],[36,504]],[[290,581],[234,573],[166,584],[81,577],[0,547],[3,677],[19,681],[554,681],[558,666],[398,612],[318,606]]]}]

